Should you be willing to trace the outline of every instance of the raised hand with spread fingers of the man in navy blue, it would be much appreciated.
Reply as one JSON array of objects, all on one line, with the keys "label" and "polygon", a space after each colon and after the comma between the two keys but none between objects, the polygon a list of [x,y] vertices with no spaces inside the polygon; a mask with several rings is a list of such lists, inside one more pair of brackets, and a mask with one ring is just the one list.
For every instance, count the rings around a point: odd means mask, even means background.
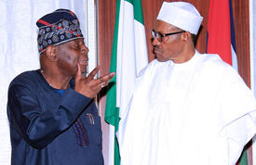
[{"label": "raised hand with spread fingers of the man in navy blue", "polygon": [[96,67],[89,73],[88,77],[83,77],[79,64],[77,64],[77,68],[78,70],[75,74],[74,90],[82,95],[88,96],[89,98],[95,97],[101,91],[101,88],[107,86],[109,81],[115,76],[115,72],[112,72],[101,76],[99,79],[94,79],[94,76],[100,69],[99,67]]}]

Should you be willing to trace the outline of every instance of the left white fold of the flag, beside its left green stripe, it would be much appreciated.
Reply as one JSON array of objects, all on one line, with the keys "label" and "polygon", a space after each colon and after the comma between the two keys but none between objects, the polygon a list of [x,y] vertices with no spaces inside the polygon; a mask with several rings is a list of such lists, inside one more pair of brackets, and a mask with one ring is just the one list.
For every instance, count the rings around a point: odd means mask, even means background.
[{"label": "left white fold of the flag, beside its left green stripe", "polygon": [[119,110],[128,102],[136,76],[133,6],[127,1],[124,1],[124,13],[123,17],[120,14],[120,19],[116,66],[116,106]]}]

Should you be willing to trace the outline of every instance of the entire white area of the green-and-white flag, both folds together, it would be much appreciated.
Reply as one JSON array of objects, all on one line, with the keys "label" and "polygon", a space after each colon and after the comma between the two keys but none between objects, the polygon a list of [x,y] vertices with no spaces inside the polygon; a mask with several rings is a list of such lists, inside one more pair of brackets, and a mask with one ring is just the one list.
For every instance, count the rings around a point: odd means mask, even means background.
[{"label": "entire white area of the green-and-white flag, both folds together", "polygon": [[120,12],[123,19],[119,20],[116,68],[116,106],[121,118],[131,98],[135,79],[148,63],[144,26],[134,19],[133,6],[127,1],[122,4],[124,13]]}]

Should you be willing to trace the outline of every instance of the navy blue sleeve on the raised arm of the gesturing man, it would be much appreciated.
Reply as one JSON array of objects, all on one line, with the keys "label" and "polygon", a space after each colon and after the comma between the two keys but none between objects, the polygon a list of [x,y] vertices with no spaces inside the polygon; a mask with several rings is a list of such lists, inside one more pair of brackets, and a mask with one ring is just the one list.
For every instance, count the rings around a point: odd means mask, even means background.
[{"label": "navy blue sleeve on the raised arm of the gesturing man", "polygon": [[47,106],[40,105],[42,102],[36,95],[39,94],[34,94],[25,85],[12,85],[8,91],[7,113],[10,124],[27,143],[39,149],[68,129],[92,102],[92,99],[69,88],[55,109],[46,109]]}]

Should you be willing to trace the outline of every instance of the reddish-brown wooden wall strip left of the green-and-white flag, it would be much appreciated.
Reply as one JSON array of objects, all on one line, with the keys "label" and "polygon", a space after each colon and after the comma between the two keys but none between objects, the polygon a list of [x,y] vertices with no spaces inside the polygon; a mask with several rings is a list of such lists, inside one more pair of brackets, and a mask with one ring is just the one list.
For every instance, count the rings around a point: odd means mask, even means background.
[{"label": "reddish-brown wooden wall strip left of the green-and-white flag", "polygon": [[[98,58],[100,67],[100,75],[109,72],[111,61],[111,50],[114,37],[115,27],[115,0],[98,0]],[[108,134],[109,126],[104,121],[106,90],[102,89],[98,96],[99,109],[101,115],[102,128],[102,152],[105,164],[108,162]]]}]

